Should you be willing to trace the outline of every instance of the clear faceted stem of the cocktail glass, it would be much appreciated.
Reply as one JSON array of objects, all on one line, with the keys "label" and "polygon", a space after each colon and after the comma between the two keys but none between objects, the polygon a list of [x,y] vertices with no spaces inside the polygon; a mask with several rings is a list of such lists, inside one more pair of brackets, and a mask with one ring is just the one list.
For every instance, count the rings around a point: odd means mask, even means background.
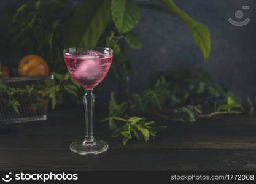
[{"label": "clear faceted stem of the cocktail glass", "polygon": [[85,140],[87,142],[93,142],[93,108],[95,104],[93,90],[85,91],[83,104],[85,105]]}]

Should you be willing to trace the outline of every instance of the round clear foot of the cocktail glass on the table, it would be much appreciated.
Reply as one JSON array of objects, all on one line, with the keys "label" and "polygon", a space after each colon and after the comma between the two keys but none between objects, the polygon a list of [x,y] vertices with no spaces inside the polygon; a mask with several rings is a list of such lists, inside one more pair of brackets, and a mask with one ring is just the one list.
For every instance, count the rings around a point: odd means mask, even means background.
[{"label": "round clear foot of the cocktail glass on the table", "polygon": [[108,150],[109,145],[103,140],[77,140],[72,142],[70,150],[80,155],[97,155]]}]

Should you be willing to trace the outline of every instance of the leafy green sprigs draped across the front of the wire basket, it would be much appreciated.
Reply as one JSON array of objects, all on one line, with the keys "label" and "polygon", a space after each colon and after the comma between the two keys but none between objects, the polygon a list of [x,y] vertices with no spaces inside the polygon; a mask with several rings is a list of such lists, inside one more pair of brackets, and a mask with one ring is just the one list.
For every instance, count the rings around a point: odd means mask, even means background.
[{"label": "leafy green sprigs draped across the front of the wire basket", "polygon": [[25,85],[24,88],[10,87],[0,80],[0,101],[8,104],[9,107],[12,107],[19,114],[22,96],[26,96],[26,99],[31,102],[33,109],[44,108],[45,101],[42,99],[50,98],[52,109],[54,109],[57,102],[61,103],[63,101],[64,93],[77,96],[77,90],[80,88],[80,85],[72,79],[68,72],[65,75],[53,74],[55,75],[55,80],[46,80],[41,85]]}]

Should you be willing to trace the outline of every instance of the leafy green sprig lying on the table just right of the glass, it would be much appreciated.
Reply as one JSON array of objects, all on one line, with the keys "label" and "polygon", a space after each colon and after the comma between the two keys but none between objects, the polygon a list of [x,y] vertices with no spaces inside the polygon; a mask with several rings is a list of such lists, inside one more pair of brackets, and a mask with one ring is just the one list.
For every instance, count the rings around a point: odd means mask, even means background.
[{"label": "leafy green sprig lying on the table just right of the glass", "polygon": [[[137,140],[149,140],[150,136],[157,136],[157,132],[163,131],[166,126],[151,126],[154,121],[146,121],[145,118],[141,117],[129,117],[124,115],[128,108],[127,102],[118,104],[115,101],[114,93],[111,93],[111,100],[109,102],[109,117],[102,120],[109,122],[109,129],[112,132],[112,137],[123,137],[123,145],[127,143],[128,140],[136,137]],[[121,126],[117,128],[117,122],[121,123]]]}]

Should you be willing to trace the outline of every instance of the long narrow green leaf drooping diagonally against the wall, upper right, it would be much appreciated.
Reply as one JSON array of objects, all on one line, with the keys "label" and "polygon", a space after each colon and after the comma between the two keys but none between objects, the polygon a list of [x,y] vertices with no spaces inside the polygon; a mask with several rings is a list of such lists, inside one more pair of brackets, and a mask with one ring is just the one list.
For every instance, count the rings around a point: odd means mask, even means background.
[{"label": "long narrow green leaf drooping diagonally against the wall, upper right", "polygon": [[211,53],[211,36],[209,29],[203,24],[193,20],[192,17],[188,16],[185,12],[180,10],[179,7],[173,2],[173,0],[158,0],[163,3],[172,15],[179,17],[183,20],[188,29],[190,29],[195,44],[200,48],[204,55],[204,59],[207,60]]}]

